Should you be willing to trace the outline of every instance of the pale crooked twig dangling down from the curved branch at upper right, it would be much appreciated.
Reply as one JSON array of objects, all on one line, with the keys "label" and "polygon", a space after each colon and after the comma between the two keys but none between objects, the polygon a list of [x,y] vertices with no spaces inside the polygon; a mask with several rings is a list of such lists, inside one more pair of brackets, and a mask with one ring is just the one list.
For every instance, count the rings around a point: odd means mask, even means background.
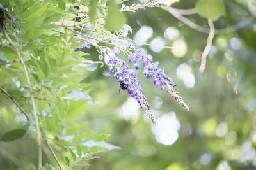
[{"label": "pale crooked twig dangling down from the curved branch at upper right", "polygon": [[209,24],[209,27],[210,27],[210,32],[209,32],[209,36],[207,38],[207,44],[204,48],[204,52],[201,55],[201,65],[199,67],[200,72],[204,72],[204,70],[205,70],[206,58],[207,58],[207,55],[209,54],[209,52],[211,50],[212,39],[214,38],[214,33],[215,33],[213,22],[209,18],[208,18],[208,24]]}]

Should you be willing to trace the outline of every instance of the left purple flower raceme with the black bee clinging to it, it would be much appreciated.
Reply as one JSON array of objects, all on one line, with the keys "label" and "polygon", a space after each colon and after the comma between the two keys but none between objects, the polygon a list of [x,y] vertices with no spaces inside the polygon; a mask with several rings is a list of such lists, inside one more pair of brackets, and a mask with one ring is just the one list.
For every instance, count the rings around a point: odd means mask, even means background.
[{"label": "left purple flower raceme with the black bee clinging to it", "polygon": [[[137,79],[137,74],[134,69],[129,69],[128,64],[121,59],[118,59],[118,53],[115,51],[115,57],[109,58],[107,64],[109,67],[109,74],[113,74],[113,77],[118,80],[118,82],[128,85],[127,92],[136,99],[140,104],[141,109],[147,113],[148,117],[152,120],[154,124],[156,121],[152,115],[150,105],[147,102],[147,98],[142,94],[141,82]],[[114,69],[115,68],[115,69]]]}]

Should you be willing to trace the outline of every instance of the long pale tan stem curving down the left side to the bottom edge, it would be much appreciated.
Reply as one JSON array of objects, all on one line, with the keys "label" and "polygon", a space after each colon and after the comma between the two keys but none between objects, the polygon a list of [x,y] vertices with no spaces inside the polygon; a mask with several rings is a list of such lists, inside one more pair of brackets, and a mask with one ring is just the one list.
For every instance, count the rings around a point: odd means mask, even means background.
[{"label": "long pale tan stem curving down the left side to the bottom edge", "polygon": [[30,92],[30,96],[31,96],[31,103],[32,103],[32,107],[33,107],[33,115],[34,115],[35,120],[36,120],[36,134],[37,134],[37,143],[38,143],[38,170],[40,170],[41,166],[42,166],[42,146],[41,146],[41,131],[40,131],[40,127],[39,127],[38,117],[37,117],[37,114],[36,114],[36,104],[35,104],[35,99],[34,99],[35,95],[34,95],[32,87],[31,87],[31,83],[30,83],[30,80],[29,80],[29,74],[28,74],[26,64],[25,64],[23,58],[21,57],[20,52],[17,50],[17,48],[13,44],[13,42],[10,39],[10,37],[8,36],[8,34],[6,34],[6,32],[5,32],[5,36],[8,39],[10,45],[12,45],[13,50],[17,53],[17,55],[20,59],[20,62],[23,66],[24,73],[25,73],[25,76],[26,76],[26,79],[27,79],[29,92]]}]

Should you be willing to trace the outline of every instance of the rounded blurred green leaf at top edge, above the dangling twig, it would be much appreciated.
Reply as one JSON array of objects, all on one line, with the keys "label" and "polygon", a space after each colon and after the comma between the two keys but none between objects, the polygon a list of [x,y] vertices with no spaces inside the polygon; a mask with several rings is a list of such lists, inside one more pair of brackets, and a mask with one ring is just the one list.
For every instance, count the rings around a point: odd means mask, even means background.
[{"label": "rounded blurred green leaf at top edge, above the dangling twig", "polygon": [[225,16],[225,4],[222,0],[199,0],[196,8],[200,16],[218,20],[219,17]]}]

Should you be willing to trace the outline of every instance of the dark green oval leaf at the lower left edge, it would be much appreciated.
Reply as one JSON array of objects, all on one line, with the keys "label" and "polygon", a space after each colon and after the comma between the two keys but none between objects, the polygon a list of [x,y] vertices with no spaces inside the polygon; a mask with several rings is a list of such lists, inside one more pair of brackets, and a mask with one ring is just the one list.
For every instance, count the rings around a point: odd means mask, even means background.
[{"label": "dark green oval leaf at the lower left edge", "polygon": [[6,132],[0,139],[0,141],[15,141],[16,139],[22,138],[26,134],[26,129],[14,129]]}]

